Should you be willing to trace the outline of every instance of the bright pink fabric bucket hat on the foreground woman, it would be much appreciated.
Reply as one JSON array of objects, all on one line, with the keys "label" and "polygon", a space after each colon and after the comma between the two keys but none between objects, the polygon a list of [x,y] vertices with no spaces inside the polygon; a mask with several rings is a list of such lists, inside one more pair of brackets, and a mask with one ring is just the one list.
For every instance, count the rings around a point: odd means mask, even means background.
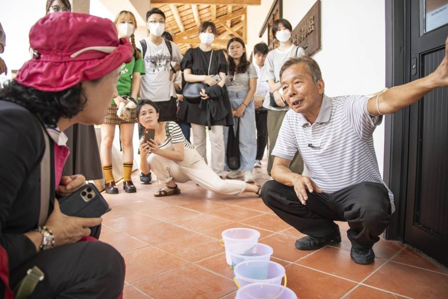
[{"label": "bright pink fabric bucket hat on the foreground woman", "polygon": [[117,36],[109,19],[85,13],[49,13],[31,27],[33,57],[19,69],[15,80],[37,90],[57,92],[99,79],[132,59],[129,40]]}]

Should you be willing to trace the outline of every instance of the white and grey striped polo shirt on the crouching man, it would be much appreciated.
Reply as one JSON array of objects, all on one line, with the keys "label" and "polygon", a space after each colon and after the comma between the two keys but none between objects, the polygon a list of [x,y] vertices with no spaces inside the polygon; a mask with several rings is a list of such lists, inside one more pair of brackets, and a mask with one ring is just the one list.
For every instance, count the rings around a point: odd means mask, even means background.
[{"label": "white and grey striped polo shirt on the crouching man", "polygon": [[299,151],[311,179],[324,192],[332,193],[363,181],[382,183],[373,147],[373,131],[382,117],[367,112],[366,96],[329,98],[324,94],[316,122],[289,110],[283,120],[272,155],[292,160]]}]

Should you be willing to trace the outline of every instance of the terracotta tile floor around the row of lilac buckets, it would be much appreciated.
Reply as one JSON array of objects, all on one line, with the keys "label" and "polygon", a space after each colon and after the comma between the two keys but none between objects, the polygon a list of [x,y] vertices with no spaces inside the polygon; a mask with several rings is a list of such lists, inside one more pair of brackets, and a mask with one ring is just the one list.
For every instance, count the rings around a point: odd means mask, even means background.
[{"label": "terracotta tile floor around the row of lilac buckets", "polygon": [[[258,184],[269,179],[265,167],[254,172]],[[155,198],[161,185],[141,185],[138,174],[137,193],[104,194],[112,211],[101,240],[126,261],[125,299],[233,299],[236,286],[219,245],[221,232],[232,227],[261,233],[259,242],[274,249],[271,259],[285,266],[288,287],[301,299],[448,298],[448,272],[399,242],[381,239],[373,264],[354,264],[341,222],[341,244],[299,251],[294,242],[303,235],[259,197],[214,194],[189,182],[179,185],[180,195]]]}]

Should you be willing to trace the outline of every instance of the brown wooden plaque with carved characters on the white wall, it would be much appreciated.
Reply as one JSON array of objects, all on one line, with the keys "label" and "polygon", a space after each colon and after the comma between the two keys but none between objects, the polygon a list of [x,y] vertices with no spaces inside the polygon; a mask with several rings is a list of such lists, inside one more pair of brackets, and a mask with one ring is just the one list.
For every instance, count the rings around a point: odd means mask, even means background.
[{"label": "brown wooden plaque with carved characters on the white wall", "polygon": [[302,47],[308,56],[322,49],[321,45],[321,0],[308,10],[291,34],[293,44]]}]

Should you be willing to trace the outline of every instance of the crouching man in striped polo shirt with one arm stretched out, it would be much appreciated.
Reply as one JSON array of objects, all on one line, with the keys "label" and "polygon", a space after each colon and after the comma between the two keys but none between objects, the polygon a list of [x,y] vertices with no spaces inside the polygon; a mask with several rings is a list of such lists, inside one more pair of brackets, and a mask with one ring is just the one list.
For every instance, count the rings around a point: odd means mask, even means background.
[{"label": "crouching man in striped polo shirt with one arm stretched out", "polygon": [[[448,51],[448,39],[447,39]],[[448,86],[448,58],[431,75],[393,87],[379,96],[324,94],[315,60],[291,58],[280,71],[281,88],[292,108],[283,120],[272,177],[261,197],[282,220],[308,236],[296,248],[311,250],[340,243],[336,221],[347,221],[351,259],[373,262],[372,246],[394,212],[393,194],[381,178],[372,134],[382,116],[417,102],[429,91]],[[299,151],[311,176],[288,165]]]}]

